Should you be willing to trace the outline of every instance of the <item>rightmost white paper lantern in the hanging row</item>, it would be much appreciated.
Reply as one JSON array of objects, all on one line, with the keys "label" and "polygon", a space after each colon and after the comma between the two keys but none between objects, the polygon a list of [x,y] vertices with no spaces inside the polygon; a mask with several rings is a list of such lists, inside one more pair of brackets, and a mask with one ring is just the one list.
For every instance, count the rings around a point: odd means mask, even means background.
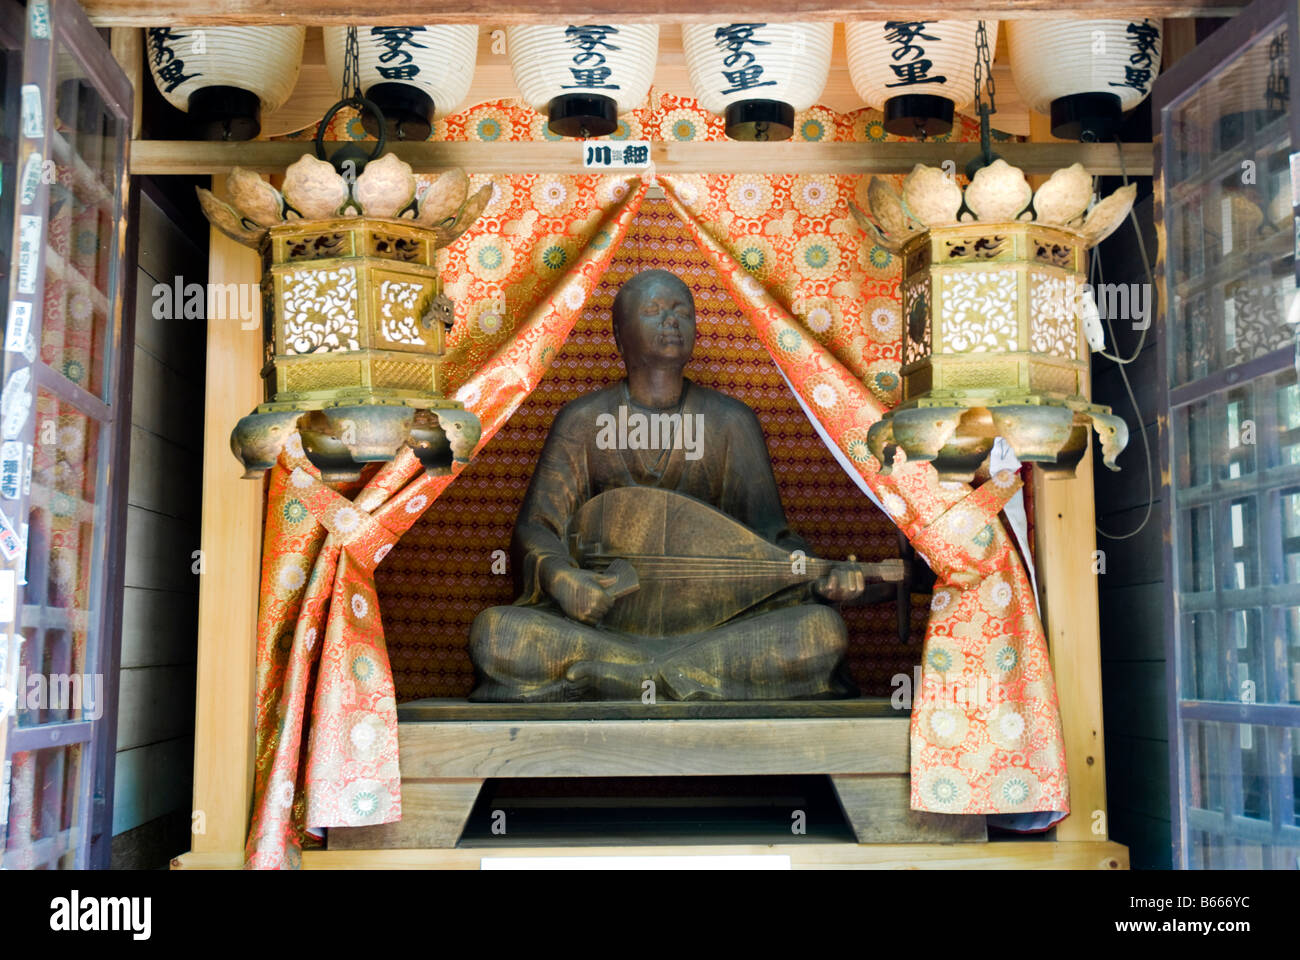
[{"label": "rightmost white paper lantern in the hanging row", "polygon": [[1017,20],[1006,23],[1011,78],[1056,137],[1110,140],[1160,73],[1158,20]]}]

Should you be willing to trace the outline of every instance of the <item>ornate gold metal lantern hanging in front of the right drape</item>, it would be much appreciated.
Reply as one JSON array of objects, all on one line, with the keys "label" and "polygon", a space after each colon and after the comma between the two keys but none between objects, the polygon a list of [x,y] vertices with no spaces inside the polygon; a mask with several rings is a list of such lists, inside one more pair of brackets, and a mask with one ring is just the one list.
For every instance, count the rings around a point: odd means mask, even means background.
[{"label": "ornate gold metal lantern hanging in front of the right drape", "polygon": [[901,447],[940,479],[968,481],[1001,436],[1020,460],[1072,476],[1091,429],[1118,470],[1128,428],[1088,401],[1087,251],[1123,221],[1135,193],[1118,190],[1088,212],[1092,178],[1079,164],[1034,193],[1004,160],[965,191],[922,165],[901,195],[870,183],[871,216],[854,215],[904,263],[902,401],[867,436],[881,472]]}]

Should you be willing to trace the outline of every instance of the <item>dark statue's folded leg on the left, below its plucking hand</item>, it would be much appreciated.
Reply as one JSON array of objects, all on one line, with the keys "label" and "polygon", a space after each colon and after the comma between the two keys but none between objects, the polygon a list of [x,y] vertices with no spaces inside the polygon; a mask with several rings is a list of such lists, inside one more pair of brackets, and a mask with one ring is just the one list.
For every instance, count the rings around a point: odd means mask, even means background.
[{"label": "dark statue's folded leg on the left, below its plucking hand", "polygon": [[597,630],[545,606],[493,606],[474,618],[471,700],[633,700],[654,676],[653,641]]}]

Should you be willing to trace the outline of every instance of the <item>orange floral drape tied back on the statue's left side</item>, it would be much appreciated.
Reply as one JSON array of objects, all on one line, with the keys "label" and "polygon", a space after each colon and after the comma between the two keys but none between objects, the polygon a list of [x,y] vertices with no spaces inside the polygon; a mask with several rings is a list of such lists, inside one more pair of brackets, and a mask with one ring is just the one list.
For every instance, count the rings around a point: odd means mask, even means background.
[{"label": "orange floral drape tied back on the statue's left side", "polygon": [[[445,268],[462,278],[447,284],[460,297],[448,385],[482,423],[478,449],[537,385],[646,191],[630,177],[560,180],[566,202],[542,216],[536,178],[498,178],[484,217],[448,254],[480,267]],[[248,866],[298,865],[309,829],[400,818],[396,700],[374,567],[459,472],[429,477],[403,451],[359,492],[335,490],[296,434],[272,470]]]}]

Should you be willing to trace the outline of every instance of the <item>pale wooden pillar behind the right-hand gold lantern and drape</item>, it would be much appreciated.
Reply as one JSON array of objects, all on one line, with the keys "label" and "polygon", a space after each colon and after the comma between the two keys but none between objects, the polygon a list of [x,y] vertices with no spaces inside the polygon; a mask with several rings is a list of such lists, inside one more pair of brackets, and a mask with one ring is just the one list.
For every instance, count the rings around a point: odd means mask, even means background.
[{"label": "pale wooden pillar behind the right-hand gold lantern and drape", "polygon": [[[1030,139],[1056,139],[1046,116],[1030,113]],[[1036,187],[1043,180],[1032,177],[1031,182]],[[1071,479],[1048,480],[1043,471],[1034,471],[1034,559],[1070,775],[1070,816],[1057,827],[1058,840],[1109,836],[1092,468],[1089,447]]]}]

